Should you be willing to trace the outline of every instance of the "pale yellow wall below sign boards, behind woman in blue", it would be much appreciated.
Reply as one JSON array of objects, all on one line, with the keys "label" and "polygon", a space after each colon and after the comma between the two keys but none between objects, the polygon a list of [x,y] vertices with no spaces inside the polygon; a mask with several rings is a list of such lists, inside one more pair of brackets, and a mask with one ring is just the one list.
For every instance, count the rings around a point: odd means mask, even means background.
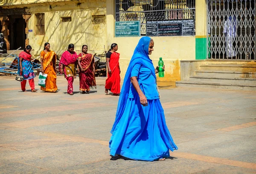
[{"label": "pale yellow wall below sign boards, behind woman in blue", "polygon": [[[140,37],[115,37],[114,1],[106,0],[107,4],[107,45],[118,44],[120,53],[121,77],[124,78],[125,72],[133,55],[134,49]],[[154,66],[157,66],[159,57],[163,58],[166,67],[165,77],[157,78],[157,81],[176,81],[180,80],[180,60],[195,59],[195,36],[179,37],[152,37],[154,40],[154,51],[150,55]]]}]

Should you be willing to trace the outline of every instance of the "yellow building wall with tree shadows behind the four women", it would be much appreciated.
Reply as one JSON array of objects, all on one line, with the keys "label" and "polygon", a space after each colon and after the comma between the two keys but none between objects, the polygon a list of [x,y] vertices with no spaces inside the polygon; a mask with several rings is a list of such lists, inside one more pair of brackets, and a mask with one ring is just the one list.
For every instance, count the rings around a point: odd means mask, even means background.
[{"label": "yellow building wall with tree shadows behind the four women", "polygon": [[[31,13],[28,22],[29,45],[32,53],[39,55],[44,49],[44,43],[51,44],[51,50],[57,54],[67,50],[70,43],[75,45],[75,51],[81,52],[82,45],[88,45],[88,52],[102,54],[106,44],[106,23],[93,24],[92,15],[105,15],[105,0],[5,0],[12,2],[12,8],[25,3],[29,5],[27,11]],[[62,2],[60,2],[62,1]],[[32,4],[37,2],[37,5]],[[39,3],[38,3],[39,2]],[[55,3],[58,2],[58,3]],[[81,3],[78,5],[77,3]],[[36,13],[44,13],[45,35],[35,35]],[[61,17],[72,17],[71,22],[62,22]]]}]

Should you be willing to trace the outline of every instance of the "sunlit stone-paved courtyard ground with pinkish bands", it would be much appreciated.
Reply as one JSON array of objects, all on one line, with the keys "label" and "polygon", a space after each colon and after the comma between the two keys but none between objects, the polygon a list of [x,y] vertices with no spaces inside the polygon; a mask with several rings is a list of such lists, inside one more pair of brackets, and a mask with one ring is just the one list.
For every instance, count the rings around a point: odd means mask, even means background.
[{"label": "sunlit stone-paved courtyard ground with pinkish bands", "polygon": [[63,76],[58,93],[22,93],[15,76],[0,76],[0,173],[256,173],[255,91],[160,89],[179,148],[173,160],[110,160],[119,97],[105,95],[105,78],[96,81],[90,94],[75,79],[67,95]]}]

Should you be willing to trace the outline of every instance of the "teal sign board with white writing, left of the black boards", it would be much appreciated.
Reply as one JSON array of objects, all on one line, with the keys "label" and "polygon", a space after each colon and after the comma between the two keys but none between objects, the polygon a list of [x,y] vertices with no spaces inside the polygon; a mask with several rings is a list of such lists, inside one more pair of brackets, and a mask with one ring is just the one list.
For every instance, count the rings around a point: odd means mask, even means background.
[{"label": "teal sign board with white writing, left of the black boards", "polygon": [[116,37],[140,36],[140,21],[123,21],[115,23]]}]

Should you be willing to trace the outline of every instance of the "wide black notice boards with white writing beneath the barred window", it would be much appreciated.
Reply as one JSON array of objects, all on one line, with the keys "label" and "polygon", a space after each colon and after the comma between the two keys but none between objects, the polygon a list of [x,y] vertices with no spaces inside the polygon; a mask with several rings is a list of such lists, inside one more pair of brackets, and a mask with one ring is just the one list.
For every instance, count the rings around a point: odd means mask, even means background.
[{"label": "wide black notice boards with white writing beneath the barred window", "polygon": [[194,36],[194,19],[146,21],[146,36]]}]

